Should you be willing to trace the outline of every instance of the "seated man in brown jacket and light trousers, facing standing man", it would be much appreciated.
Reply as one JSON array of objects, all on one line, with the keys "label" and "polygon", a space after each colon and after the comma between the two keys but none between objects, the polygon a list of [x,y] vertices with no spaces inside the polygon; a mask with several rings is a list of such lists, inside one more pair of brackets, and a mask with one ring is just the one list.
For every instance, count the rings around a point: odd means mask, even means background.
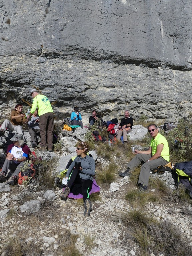
[{"label": "seated man in brown jacket and light trousers, facing standing man", "polygon": [[[22,109],[22,104],[17,104],[15,106],[15,110],[11,111],[10,121],[5,119],[5,121],[2,123],[0,127],[0,135],[3,135],[6,129],[9,129],[10,131],[16,131],[17,133],[23,135],[22,124],[26,124],[27,119],[25,118],[25,114],[22,113]],[[25,140],[24,135],[23,139]]]}]

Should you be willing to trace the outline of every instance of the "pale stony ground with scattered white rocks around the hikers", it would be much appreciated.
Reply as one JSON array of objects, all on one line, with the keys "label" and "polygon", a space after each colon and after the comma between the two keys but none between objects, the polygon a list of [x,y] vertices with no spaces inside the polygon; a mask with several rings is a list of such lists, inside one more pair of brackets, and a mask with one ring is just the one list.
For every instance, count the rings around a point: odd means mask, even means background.
[{"label": "pale stony ground with scattered white rocks around the hikers", "polygon": [[[62,137],[65,141],[65,136]],[[76,139],[75,139],[76,140]],[[70,140],[68,140],[69,143]],[[71,147],[76,142],[72,142]],[[30,144],[30,142],[28,143]],[[69,145],[68,145],[69,146]],[[74,152],[66,152],[63,146],[57,170],[67,162]],[[124,156],[123,147],[119,151]],[[41,153],[43,159],[50,159],[58,152]],[[1,154],[3,158],[3,153]],[[111,161],[94,155],[97,170],[105,168]],[[114,164],[118,171],[125,170],[126,159],[114,155]],[[156,177],[156,174],[153,174]],[[173,180],[169,173],[161,176],[167,185],[173,189]],[[58,256],[62,253],[62,239],[66,230],[78,235],[76,249],[82,255],[140,255],[138,244],[128,235],[126,225],[119,216],[131,209],[125,200],[125,194],[130,189],[136,189],[128,177],[116,175],[116,186],[119,190],[110,192],[110,186],[101,185],[100,195],[92,199],[93,211],[89,217],[83,216],[81,200],[61,200],[60,188],[39,190],[38,181],[27,186],[9,186],[0,183],[0,252],[5,255],[3,247],[6,243],[18,238],[26,247],[25,255]],[[30,203],[29,203],[30,202]],[[170,220],[177,226],[181,234],[192,244],[191,203],[184,206],[174,201],[162,200],[148,203],[146,212],[160,221]],[[91,242],[87,242],[88,239]],[[7,254],[6,254],[7,255]],[[71,255],[71,254],[68,254]],[[151,252],[151,256],[154,254]],[[162,255],[162,254],[161,254]],[[187,256],[187,255],[186,255]]]}]

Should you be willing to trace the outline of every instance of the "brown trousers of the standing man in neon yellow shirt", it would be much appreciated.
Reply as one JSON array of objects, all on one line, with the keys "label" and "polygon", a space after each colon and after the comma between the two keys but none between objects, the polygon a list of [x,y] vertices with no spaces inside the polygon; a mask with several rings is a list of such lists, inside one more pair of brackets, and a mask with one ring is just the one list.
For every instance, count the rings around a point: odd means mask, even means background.
[{"label": "brown trousers of the standing man in neon yellow shirt", "polygon": [[53,113],[45,113],[39,117],[39,128],[42,147],[53,147]]}]

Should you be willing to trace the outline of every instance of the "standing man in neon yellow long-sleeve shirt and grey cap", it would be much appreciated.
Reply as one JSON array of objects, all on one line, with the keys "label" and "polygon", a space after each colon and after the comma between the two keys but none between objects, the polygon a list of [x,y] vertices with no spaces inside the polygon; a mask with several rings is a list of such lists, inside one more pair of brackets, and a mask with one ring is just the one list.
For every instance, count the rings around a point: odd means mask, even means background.
[{"label": "standing man in neon yellow long-sleeve shirt and grey cap", "polygon": [[49,99],[45,95],[41,95],[36,89],[30,90],[30,95],[33,97],[33,105],[28,119],[33,115],[36,108],[39,113],[39,128],[41,135],[41,146],[39,150],[52,152],[53,149],[53,109]]}]

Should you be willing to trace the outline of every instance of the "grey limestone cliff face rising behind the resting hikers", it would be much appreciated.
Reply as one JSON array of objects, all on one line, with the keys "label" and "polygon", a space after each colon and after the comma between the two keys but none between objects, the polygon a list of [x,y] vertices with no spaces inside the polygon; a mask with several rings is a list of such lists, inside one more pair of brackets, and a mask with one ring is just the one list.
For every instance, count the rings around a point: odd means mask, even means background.
[{"label": "grey limestone cliff face rising behind the resting hikers", "polygon": [[1,115],[39,87],[55,112],[191,110],[191,0],[0,0]]}]

